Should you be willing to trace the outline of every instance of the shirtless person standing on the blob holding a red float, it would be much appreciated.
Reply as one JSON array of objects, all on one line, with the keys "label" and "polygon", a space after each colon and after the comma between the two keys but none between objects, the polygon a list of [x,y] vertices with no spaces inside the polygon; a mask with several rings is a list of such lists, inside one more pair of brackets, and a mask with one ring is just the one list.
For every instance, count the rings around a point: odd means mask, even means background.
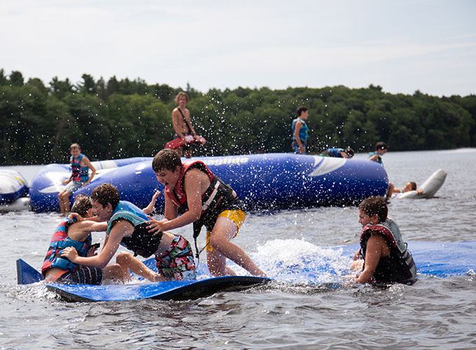
[{"label": "shirtless person standing on the blob holding a red float", "polygon": [[[195,140],[198,139],[192,123],[190,122],[190,111],[186,109],[186,104],[189,101],[188,94],[185,92],[179,92],[175,97],[175,102],[179,105],[174,111],[172,111],[172,123],[174,124],[175,136],[180,137],[182,141],[185,141],[186,135],[193,135]],[[186,158],[192,158],[192,146],[184,145],[183,147],[176,148],[175,150],[179,157],[182,156],[182,151],[185,153]]]}]

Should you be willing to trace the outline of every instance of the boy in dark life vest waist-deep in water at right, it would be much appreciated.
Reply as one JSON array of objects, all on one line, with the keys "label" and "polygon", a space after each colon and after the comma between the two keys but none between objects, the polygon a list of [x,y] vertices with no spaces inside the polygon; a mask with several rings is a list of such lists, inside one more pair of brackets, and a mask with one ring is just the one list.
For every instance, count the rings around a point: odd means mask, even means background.
[{"label": "boy in dark life vest waist-deep in water at right", "polygon": [[397,223],[387,214],[383,197],[369,197],[358,206],[362,233],[360,249],[353,260],[363,259],[363,269],[356,283],[412,283],[416,279],[412,254],[402,240]]}]

